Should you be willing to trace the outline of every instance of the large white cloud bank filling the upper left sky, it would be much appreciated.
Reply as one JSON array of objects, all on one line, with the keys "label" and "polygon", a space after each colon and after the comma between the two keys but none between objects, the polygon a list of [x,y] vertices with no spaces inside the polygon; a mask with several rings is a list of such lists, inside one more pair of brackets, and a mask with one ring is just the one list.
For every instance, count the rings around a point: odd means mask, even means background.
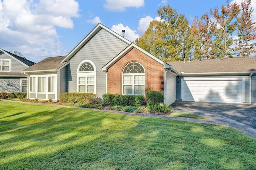
[{"label": "large white cloud bank filling the upper left sky", "polygon": [[78,10],[75,0],[2,0],[1,48],[20,51],[35,62],[42,56],[64,54],[55,26],[73,28],[71,17],[78,17]]}]

